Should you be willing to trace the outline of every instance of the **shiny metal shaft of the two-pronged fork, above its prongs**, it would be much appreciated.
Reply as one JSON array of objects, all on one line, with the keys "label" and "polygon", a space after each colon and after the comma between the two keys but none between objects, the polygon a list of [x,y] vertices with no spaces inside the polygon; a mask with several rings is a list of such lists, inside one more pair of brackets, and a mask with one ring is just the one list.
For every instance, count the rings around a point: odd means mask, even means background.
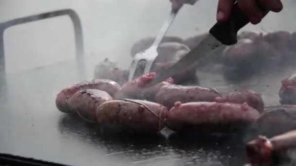
[{"label": "shiny metal shaft of the two-pronged fork, above its prongs", "polygon": [[159,44],[162,41],[162,39],[164,38],[168,28],[170,27],[170,25],[173,23],[175,17],[177,16],[179,10],[177,10],[177,11],[171,10],[171,12],[169,14],[169,17],[166,19],[165,23],[163,24],[160,31],[156,35],[156,38],[155,38],[155,40],[154,40],[154,42],[152,44],[152,47],[157,48],[159,46]]}]

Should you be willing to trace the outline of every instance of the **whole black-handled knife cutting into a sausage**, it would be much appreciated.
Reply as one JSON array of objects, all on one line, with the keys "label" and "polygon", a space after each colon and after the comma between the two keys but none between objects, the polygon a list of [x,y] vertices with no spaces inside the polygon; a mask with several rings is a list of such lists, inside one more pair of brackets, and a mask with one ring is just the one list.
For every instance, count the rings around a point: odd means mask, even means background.
[{"label": "whole black-handled knife cutting into a sausage", "polygon": [[147,83],[145,86],[153,86],[165,81],[167,78],[184,70],[186,66],[190,66],[198,59],[202,58],[211,50],[215,50],[222,45],[230,46],[236,44],[238,42],[238,31],[249,22],[249,19],[241,13],[238,3],[234,2],[231,16],[228,21],[217,22],[197,47],[190,50],[173,66],[156,73],[155,79]]}]

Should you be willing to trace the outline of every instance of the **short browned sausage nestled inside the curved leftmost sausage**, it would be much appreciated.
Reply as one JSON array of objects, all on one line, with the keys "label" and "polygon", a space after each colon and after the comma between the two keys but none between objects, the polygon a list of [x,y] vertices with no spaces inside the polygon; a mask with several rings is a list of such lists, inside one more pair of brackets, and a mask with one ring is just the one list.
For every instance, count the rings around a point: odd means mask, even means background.
[{"label": "short browned sausage nestled inside the curved leftmost sausage", "polygon": [[68,105],[83,119],[96,122],[96,109],[103,102],[112,100],[105,91],[98,89],[79,90],[68,100]]}]

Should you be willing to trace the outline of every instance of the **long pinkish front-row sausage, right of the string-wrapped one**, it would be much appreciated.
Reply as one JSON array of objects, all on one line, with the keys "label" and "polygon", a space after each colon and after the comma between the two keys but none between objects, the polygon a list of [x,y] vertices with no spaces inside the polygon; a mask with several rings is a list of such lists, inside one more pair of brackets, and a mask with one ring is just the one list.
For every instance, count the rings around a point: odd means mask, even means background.
[{"label": "long pinkish front-row sausage, right of the string-wrapped one", "polygon": [[246,102],[176,102],[167,114],[166,125],[177,132],[228,132],[246,127],[258,118],[259,112]]}]

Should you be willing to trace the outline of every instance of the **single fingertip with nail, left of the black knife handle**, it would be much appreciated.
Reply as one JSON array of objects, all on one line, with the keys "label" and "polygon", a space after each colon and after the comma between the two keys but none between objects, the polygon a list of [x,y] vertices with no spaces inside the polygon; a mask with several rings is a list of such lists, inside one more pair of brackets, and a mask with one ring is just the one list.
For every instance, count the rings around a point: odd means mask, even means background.
[{"label": "single fingertip with nail, left of the black knife handle", "polygon": [[230,17],[231,10],[233,7],[233,0],[219,0],[217,8],[217,21],[223,22],[227,21]]}]

